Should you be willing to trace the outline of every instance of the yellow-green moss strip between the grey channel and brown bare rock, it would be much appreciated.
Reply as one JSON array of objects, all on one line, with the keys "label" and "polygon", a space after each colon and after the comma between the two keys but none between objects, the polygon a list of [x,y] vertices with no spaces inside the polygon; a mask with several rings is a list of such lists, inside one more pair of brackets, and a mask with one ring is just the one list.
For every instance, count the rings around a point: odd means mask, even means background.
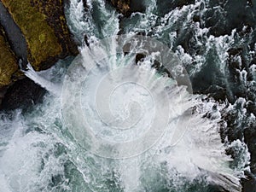
[{"label": "yellow-green moss strip between the grey channel and brown bare rock", "polygon": [[36,69],[49,57],[61,54],[61,44],[46,21],[47,15],[32,7],[30,0],[2,0],[26,38],[28,59]]}]

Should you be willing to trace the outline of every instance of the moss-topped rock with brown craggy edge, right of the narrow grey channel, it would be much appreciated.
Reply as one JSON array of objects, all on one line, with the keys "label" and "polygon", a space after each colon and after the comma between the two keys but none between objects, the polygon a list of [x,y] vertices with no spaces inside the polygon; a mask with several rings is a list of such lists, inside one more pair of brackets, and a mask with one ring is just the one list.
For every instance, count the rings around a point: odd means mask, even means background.
[{"label": "moss-topped rock with brown craggy edge, right of the narrow grey channel", "polygon": [[61,0],[2,0],[26,38],[28,60],[36,70],[78,54]]}]

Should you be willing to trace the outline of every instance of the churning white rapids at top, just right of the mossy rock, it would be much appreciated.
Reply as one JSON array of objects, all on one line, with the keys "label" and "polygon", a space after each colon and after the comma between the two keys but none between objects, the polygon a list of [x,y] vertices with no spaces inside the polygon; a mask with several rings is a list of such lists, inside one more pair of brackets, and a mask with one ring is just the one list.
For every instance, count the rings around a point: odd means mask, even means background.
[{"label": "churning white rapids at top, just right of the mossy rock", "polygon": [[67,24],[81,43],[84,35],[90,42],[90,38],[107,38],[119,32],[119,15],[106,1],[90,0],[84,6],[82,0],[72,0],[66,9]]}]

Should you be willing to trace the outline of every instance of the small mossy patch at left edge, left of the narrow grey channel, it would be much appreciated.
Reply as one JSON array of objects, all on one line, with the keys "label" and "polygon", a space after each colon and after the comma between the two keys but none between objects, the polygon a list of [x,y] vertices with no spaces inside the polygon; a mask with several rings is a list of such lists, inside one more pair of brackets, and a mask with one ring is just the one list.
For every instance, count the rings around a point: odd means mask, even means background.
[{"label": "small mossy patch at left edge, left of the narrow grey channel", "polygon": [[18,71],[18,65],[2,34],[0,34],[0,50],[0,88],[2,88],[13,82],[12,76]]}]

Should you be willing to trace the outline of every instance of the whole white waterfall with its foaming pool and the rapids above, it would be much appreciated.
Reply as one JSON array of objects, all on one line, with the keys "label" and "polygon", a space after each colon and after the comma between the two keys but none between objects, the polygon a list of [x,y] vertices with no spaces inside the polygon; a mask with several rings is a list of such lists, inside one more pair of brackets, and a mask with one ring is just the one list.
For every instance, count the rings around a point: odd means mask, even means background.
[{"label": "whole white waterfall with its foaming pool and the rapids above", "polygon": [[[208,1],[166,15],[158,14],[157,1],[148,1],[145,13],[121,24],[105,1],[87,3],[86,11],[79,0],[66,8],[80,55],[44,72],[25,72],[49,90],[44,102],[30,112],[1,114],[0,191],[241,191],[239,178],[249,169],[247,145],[222,143],[219,132],[227,126],[222,113],[245,101],[227,107],[192,94],[189,78],[206,70],[214,55],[221,84],[235,99],[225,61],[230,46],[245,39],[236,30],[213,37],[199,23],[189,28]],[[188,31],[195,53],[179,45]],[[174,53],[137,33],[168,44]],[[155,69],[158,61],[167,74]],[[249,70],[255,80],[255,65]],[[239,73],[253,87],[247,72]],[[242,118],[246,111],[239,113]],[[255,119],[253,113],[248,119]],[[235,160],[225,153],[228,148],[236,150]]]}]

